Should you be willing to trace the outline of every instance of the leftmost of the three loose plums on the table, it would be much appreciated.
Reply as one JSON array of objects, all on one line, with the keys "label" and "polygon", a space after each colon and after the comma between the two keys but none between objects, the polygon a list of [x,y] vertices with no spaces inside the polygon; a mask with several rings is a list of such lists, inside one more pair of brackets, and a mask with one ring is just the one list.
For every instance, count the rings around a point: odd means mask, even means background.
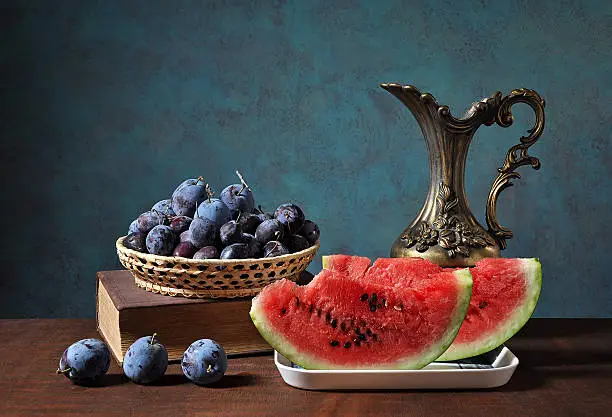
[{"label": "leftmost of the three loose plums on the table", "polygon": [[103,341],[82,339],[68,346],[60,359],[58,374],[75,384],[90,385],[97,382],[110,366],[110,351]]}]

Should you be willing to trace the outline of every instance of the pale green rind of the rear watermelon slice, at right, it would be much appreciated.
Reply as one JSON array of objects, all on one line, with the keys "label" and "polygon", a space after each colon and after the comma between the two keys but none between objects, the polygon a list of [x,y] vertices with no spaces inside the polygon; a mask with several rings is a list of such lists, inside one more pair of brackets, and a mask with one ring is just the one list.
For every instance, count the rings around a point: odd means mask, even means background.
[{"label": "pale green rind of the rear watermelon slice, at right", "polygon": [[507,320],[500,323],[497,330],[485,338],[470,343],[452,344],[436,361],[454,361],[481,355],[501,346],[514,336],[533,314],[542,289],[542,265],[538,258],[520,259],[525,276],[526,288],[524,300]]}]

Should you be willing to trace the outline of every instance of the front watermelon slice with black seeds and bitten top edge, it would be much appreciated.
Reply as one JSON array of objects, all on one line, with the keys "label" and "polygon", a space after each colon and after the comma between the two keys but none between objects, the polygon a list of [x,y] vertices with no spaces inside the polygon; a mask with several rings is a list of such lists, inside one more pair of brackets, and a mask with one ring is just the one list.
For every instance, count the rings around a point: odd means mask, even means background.
[{"label": "front watermelon slice with black seeds and bitten top edge", "polygon": [[419,288],[324,269],[307,286],[267,286],[250,314],[272,347],[306,369],[420,369],[457,335],[471,288],[468,269],[432,275]]}]

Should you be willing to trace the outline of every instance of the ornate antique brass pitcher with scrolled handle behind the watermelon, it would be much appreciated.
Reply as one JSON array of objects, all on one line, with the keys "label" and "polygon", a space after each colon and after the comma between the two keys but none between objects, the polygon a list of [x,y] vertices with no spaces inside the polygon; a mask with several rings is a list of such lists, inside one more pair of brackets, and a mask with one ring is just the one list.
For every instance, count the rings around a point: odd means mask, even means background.
[{"label": "ornate antique brass pitcher with scrolled handle behind the watermelon", "polygon": [[[497,221],[495,208],[502,190],[520,178],[515,170],[522,165],[540,168],[540,161],[527,150],[544,130],[544,100],[526,88],[513,90],[502,97],[498,91],[474,103],[462,118],[451,115],[448,106],[441,106],[428,93],[412,85],[381,84],[404,103],[416,118],[429,154],[429,190],[423,208],[410,225],[395,240],[392,257],[419,256],[441,266],[473,266],[486,257],[499,257],[506,248],[512,231]],[[465,194],[465,161],[476,130],[497,123],[502,127],[514,121],[511,107],[526,103],[535,112],[535,124],[518,145],[506,154],[502,167],[493,181],[487,200],[488,229],[481,226],[470,210]]]}]

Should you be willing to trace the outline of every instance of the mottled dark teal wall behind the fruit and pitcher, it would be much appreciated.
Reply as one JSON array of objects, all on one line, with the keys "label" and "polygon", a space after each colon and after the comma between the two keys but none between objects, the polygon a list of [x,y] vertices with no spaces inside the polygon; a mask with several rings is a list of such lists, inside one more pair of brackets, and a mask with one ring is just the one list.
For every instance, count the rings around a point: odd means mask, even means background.
[{"label": "mottled dark teal wall behind the fruit and pitcher", "polygon": [[[612,315],[612,2],[247,3],[2,2],[1,316],[93,316],[95,273],[119,266],[132,218],[184,178],[220,190],[236,168],[264,208],[303,203],[321,253],[387,255],[428,182],[388,81],[455,115],[496,90],[546,99],[542,169],[500,200],[505,256],[541,258],[537,316]],[[533,122],[518,107],[472,145],[481,221]]]}]

